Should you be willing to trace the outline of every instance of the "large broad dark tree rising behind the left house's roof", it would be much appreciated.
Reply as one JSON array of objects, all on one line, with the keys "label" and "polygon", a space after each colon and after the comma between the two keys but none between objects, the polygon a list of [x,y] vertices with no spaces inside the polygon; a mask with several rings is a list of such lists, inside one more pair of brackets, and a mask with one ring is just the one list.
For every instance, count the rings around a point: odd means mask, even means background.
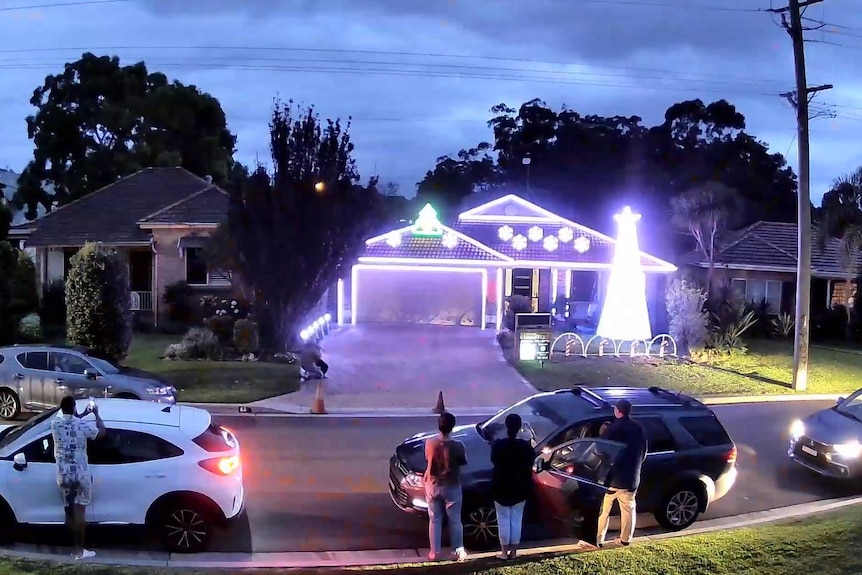
[{"label": "large broad dark tree rising behind the left house's roof", "polygon": [[218,100],[143,62],[85,53],[47,76],[30,103],[33,159],[15,197],[30,218],[39,204],[50,210],[142,168],[182,166],[221,183],[233,162],[236,138]]}]

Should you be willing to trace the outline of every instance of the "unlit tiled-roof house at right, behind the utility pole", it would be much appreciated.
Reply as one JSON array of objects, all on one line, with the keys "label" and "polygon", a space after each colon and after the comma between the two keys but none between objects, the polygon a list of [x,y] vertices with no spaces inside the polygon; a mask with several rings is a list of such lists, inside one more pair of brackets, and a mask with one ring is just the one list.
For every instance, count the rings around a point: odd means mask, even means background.
[{"label": "unlit tiled-roof house at right, behind the utility pole", "polygon": [[[844,257],[841,242],[827,241],[819,248],[819,230],[812,228],[811,308],[812,313],[838,305],[852,306],[856,296],[856,276],[862,271],[862,254]],[[746,301],[760,304],[764,299],[770,313],[793,314],[796,305],[797,225],[783,222],[756,222],[734,232],[716,250],[714,281],[730,281]],[[681,265],[705,270],[709,263],[700,252],[681,258]],[[847,278],[853,278],[848,288]]]}]

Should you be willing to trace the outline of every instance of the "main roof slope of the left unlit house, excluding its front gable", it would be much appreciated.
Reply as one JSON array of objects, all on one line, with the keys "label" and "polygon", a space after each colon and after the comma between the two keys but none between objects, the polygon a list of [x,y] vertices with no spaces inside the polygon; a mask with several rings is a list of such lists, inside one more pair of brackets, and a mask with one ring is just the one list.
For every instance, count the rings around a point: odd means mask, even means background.
[{"label": "main roof slope of the left unlit house, excluding its front gable", "polygon": [[27,247],[149,243],[139,220],[211,185],[183,168],[145,168],[32,222]]}]

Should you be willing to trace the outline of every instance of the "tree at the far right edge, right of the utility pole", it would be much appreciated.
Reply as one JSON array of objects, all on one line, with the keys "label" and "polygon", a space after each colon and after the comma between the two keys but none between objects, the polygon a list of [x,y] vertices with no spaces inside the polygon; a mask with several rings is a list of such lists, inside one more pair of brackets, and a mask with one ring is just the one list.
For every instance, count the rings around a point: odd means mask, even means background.
[{"label": "tree at the far right edge, right of the utility pole", "polygon": [[[829,240],[841,245],[841,263],[847,295],[853,279],[859,275],[858,261],[862,249],[862,167],[836,179],[820,204],[817,248],[823,252]],[[847,308],[847,329],[851,328],[852,306]]]}]

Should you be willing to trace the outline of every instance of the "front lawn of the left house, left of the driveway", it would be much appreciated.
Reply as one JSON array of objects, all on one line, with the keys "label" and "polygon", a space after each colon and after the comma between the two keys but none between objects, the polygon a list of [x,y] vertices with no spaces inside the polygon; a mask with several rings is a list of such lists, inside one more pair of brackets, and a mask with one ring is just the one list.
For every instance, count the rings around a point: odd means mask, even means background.
[{"label": "front lawn of the left house, left of the driveway", "polygon": [[296,365],[159,359],[179,340],[180,336],[135,334],[124,364],[161,375],[177,388],[180,401],[247,403],[299,389]]}]

